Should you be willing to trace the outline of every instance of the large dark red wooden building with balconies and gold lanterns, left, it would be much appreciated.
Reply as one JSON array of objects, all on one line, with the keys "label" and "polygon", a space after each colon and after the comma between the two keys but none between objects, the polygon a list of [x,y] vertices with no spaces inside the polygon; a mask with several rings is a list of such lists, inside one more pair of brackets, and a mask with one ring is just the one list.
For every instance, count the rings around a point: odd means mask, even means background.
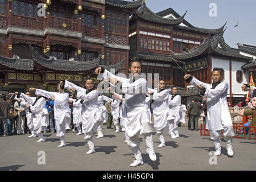
[{"label": "large dark red wooden building with balconies and gold lanterns, left", "polygon": [[127,74],[129,15],[141,4],[0,0],[0,89],[55,90],[59,79],[82,84],[98,65]]}]

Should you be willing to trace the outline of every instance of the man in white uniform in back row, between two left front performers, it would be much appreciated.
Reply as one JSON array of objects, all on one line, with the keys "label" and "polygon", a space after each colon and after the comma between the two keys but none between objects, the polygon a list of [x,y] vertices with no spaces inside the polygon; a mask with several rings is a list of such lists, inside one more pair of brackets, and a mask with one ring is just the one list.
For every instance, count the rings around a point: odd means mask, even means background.
[{"label": "man in white uniform in back row, between two left front performers", "polygon": [[77,127],[77,135],[82,135],[82,129],[80,125],[82,124],[82,103],[83,100],[69,99],[69,103],[73,105],[73,123]]}]

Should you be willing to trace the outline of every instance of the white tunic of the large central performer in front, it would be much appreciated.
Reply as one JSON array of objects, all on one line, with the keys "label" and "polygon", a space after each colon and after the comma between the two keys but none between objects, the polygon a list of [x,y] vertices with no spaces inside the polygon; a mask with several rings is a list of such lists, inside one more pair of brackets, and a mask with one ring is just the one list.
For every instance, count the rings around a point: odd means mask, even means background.
[{"label": "white tunic of the large central performer in front", "polygon": [[139,78],[130,84],[130,79],[115,76],[106,69],[103,73],[103,77],[114,77],[117,78],[117,81],[122,82],[122,93],[125,93],[125,97],[123,99],[125,130],[129,137],[133,137],[142,129],[140,121],[141,113],[148,108],[145,102],[147,81],[144,78]]}]

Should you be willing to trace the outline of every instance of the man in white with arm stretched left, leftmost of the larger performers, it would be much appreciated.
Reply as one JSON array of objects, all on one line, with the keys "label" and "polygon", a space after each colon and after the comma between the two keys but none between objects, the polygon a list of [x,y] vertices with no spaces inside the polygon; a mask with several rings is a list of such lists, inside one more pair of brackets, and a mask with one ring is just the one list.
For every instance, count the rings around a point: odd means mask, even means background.
[{"label": "man in white with arm stretched left, leftmost of the larger performers", "polygon": [[59,137],[61,144],[58,147],[65,147],[66,123],[70,123],[71,111],[69,109],[69,94],[64,92],[64,86],[60,82],[57,84],[59,92],[47,92],[41,89],[30,88],[35,90],[36,95],[52,98],[54,100],[54,119],[56,137]]}]

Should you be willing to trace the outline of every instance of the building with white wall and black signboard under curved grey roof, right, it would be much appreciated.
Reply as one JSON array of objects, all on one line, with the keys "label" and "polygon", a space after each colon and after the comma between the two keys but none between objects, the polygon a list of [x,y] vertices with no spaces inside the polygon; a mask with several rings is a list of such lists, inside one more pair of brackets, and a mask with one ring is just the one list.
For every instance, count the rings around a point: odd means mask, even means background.
[{"label": "building with white wall and black signboard under curved grey roof, right", "polygon": [[[229,84],[227,97],[231,104],[245,98],[246,92],[242,91],[241,86],[244,82],[248,82],[249,74],[243,72],[242,67],[251,63],[253,57],[241,55],[239,49],[229,47],[221,35],[206,38],[200,46],[189,51],[182,53],[171,51],[171,56],[174,59],[186,61],[183,65],[184,70],[198,80],[209,84],[211,84],[210,73],[213,68],[223,68],[224,82]],[[187,85],[185,83],[185,88]],[[189,86],[181,96],[186,97],[187,104],[190,104],[191,100],[198,98],[199,92]]]}]

